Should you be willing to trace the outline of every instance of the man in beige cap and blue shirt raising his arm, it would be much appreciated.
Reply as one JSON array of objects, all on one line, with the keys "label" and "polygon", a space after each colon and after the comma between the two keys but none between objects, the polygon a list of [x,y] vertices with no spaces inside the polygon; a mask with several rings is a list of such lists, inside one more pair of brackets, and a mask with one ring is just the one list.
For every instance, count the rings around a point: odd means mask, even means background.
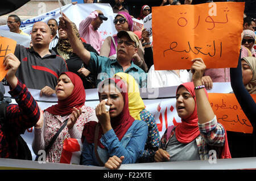
[{"label": "man in beige cap and blue shirt raising his arm", "polygon": [[104,56],[97,56],[95,53],[86,50],[81,41],[75,36],[72,22],[65,14],[63,14],[63,18],[60,17],[59,26],[67,31],[73,52],[81,57],[82,61],[88,66],[88,70],[96,77],[96,87],[102,80],[111,78],[118,72],[132,75],[140,87],[146,87],[147,74],[131,61],[139,47],[139,38],[134,32],[119,31],[117,33],[117,58],[110,59]]}]

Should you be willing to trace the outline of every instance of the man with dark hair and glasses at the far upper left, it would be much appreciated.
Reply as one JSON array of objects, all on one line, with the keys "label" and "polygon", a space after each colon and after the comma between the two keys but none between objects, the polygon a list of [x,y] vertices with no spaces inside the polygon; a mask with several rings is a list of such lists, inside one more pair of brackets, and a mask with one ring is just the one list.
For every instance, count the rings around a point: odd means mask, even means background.
[{"label": "man with dark hair and glasses at the far upper left", "polygon": [[20,27],[20,18],[17,15],[9,15],[7,19],[7,26],[10,29],[10,32],[19,33],[20,35],[29,36],[27,33],[24,33],[22,30],[19,29]]}]

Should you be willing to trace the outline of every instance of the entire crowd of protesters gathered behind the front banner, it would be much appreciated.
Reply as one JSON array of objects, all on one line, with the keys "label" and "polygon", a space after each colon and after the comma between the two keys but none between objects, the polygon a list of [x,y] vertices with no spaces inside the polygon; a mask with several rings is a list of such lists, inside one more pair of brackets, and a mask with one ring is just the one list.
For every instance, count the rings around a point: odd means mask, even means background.
[{"label": "entire crowd of protesters gathered behind the front banner", "polygon": [[[19,158],[18,136],[33,126],[32,149],[36,155],[46,150],[47,162],[60,162],[66,138],[82,140],[81,165],[109,169],[122,163],[204,160],[209,159],[209,150],[215,150],[217,158],[255,157],[255,131],[227,132],[217,122],[207,93],[213,82],[231,82],[255,128],[256,105],[250,96],[256,94],[255,19],[243,19],[240,58],[234,60],[237,68],[207,69],[196,58],[190,70],[155,70],[148,32],[133,32],[133,17],[123,1],[115,0],[113,7],[117,35],[105,41],[97,31],[108,19],[101,10],[82,20],[79,29],[63,14],[59,20],[36,22],[30,48],[16,45],[14,54],[5,56],[5,78],[18,104],[1,107],[5,121],[0,124],[0,158]],[[184,3],[191,5],[192,0]],[[163,0],[160,6],[180,4]],[[142,6],[137,19],[150,12],[149,6]],[[10,15],[7,25],[11,32],[24,34],[18,16]],[[0,86],[2,104],[5,89]],[[139,88],[167,86],[178,86],[176,110],[181,123],[168,127],[160,137]],[[38,89],[41,95],[56,94],[57,104],[40,110],[27,88]],[[93,88],[98,88],[100,100],[95,109],[85,106],[86,89]]]}]

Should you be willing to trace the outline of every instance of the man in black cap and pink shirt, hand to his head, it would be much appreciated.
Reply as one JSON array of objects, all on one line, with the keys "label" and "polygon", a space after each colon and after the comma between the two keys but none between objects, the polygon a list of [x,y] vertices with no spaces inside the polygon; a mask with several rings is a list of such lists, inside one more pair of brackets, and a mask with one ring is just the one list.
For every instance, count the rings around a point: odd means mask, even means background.
[{"label": "man in black cap and pink shirt, hand to his head", "polygon": [[98,54],[100,54],[103,40],[100,32],[97,30],[100,28],[103,20],[108,20],[108,18],[104,16],[101,10],[95,10],[79,24],[80,36],[85,39],[86,43],[92,45],[92,47],[97,50]]}]

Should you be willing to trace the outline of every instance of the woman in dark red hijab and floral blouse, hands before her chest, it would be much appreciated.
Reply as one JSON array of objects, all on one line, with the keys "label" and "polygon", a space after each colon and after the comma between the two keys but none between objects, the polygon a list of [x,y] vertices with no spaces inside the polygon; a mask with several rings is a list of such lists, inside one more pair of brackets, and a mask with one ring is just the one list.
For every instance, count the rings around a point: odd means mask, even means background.
[{"label": "woman in dark red hijab and floral blouse, hands before her chest", "polygon": [[85,90],[81,78],[70,71],[60,75],[55,87],[57,104],[44,110],[35,125],[32,149],[35,154],[46,149],[55,133],[67,120],[67,125],[46,153],[47,162],[60,162],[65,138],[81,138],[88,121],[97,121],[93,108],[85,106]]}]

